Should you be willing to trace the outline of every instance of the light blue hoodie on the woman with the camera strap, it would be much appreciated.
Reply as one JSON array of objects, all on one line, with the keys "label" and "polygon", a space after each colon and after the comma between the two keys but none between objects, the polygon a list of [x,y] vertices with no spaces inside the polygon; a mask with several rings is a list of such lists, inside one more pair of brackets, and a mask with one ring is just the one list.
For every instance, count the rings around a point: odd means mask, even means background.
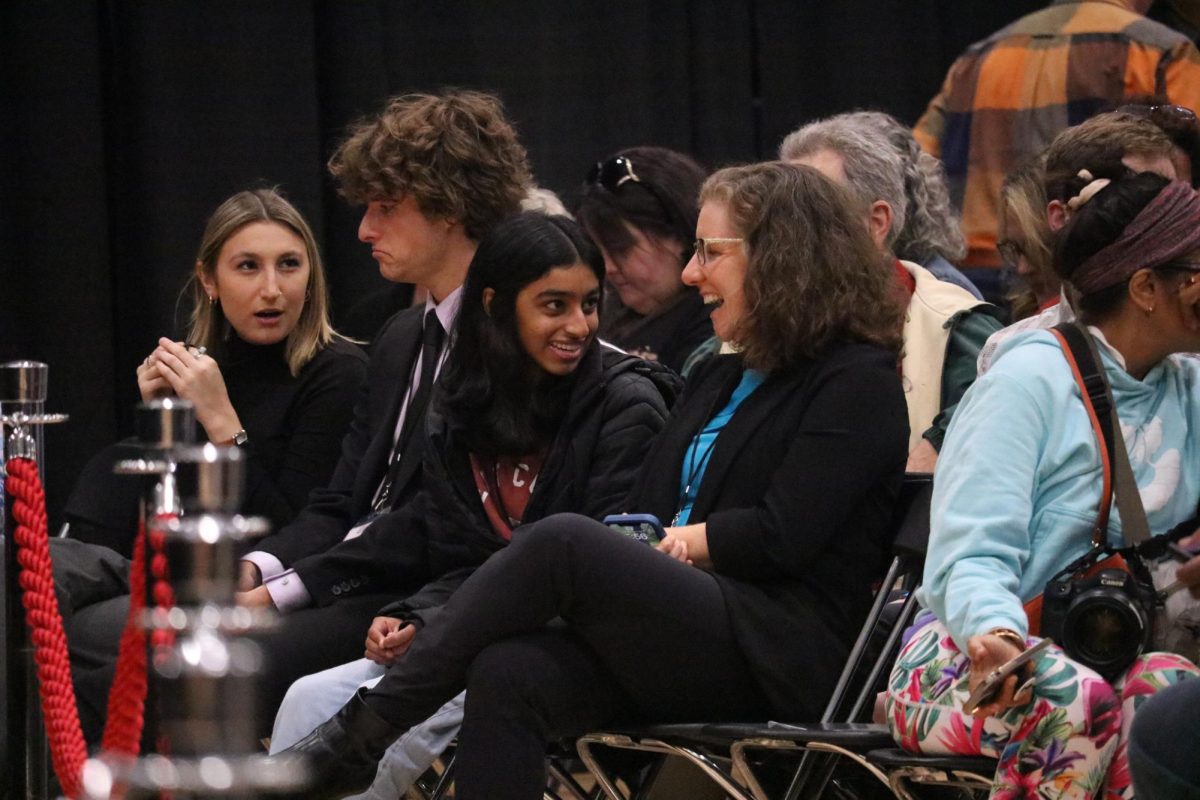
[{"label": "light blue hoodie on the woman with the camera strap", "polygon": [[[1169,356],[1136,380],[1098,345],[1150,529],[1164,533],[1200,498],[1200,361]],[[1099,447],[1057,341],[1027,331],[1000,354],[947,432],[918,594],[964,649],[994,627],[1026,633],[1022,603],[1088,551],[1100,501]],[[1109,541],[1123,542],[1115,506]]]}]

